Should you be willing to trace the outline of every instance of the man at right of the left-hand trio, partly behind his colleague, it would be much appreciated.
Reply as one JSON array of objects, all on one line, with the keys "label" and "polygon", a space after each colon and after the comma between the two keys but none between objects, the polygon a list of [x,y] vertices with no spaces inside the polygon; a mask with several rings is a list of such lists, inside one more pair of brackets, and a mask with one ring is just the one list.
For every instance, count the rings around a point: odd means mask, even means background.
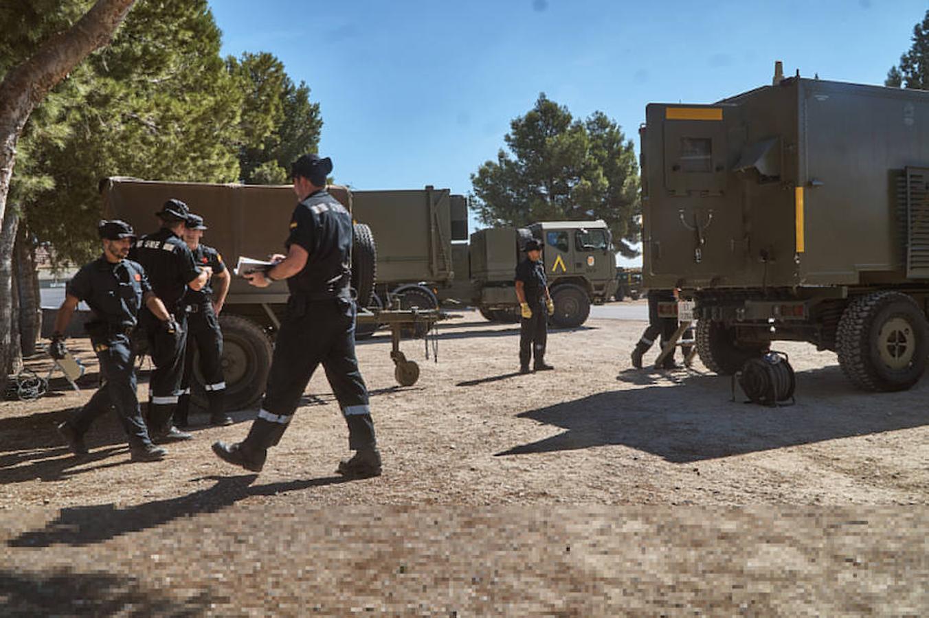
[{"label": "man at right of the left-hand trio, partly behind his colleague", "polygon": [[[226,392],[221,364],[223,333],[217,319],[226,302],[231,280],[219,252],[200,242],[205,229],[207,227],[203,225],[203,217],[191,212],[184,225],[184,242],[193,253],[193,261],[201,266],[209,266],[213,270],[213,277],[201,290],[188,290],[184,297],[187,303],[187,350],[184,353],[184,378],[181,380],[181,394],[175,413],[175,424],[180,428],[189,424],[190,376],[193,374],[194,351],[200,352],[200,371],[203,373],[203,389],[210,410],[210,424],[216,427],[232,424],[232,419],[223,411],[223,393]],[[213,281],[218,283],[215,301]]]}]

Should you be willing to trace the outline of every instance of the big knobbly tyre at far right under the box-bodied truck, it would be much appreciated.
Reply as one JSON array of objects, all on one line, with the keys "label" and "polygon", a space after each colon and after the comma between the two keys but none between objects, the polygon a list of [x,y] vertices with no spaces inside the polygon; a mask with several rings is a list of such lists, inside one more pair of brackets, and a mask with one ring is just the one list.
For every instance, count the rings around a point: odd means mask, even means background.
[{"label": "big knobbly tyre at far right under the box-bodied truck", "polygon": [[929,324],[900,292],[860,296],[845,307],[835,336],[839,366],[864,391],[905,391],[922,378]]}]

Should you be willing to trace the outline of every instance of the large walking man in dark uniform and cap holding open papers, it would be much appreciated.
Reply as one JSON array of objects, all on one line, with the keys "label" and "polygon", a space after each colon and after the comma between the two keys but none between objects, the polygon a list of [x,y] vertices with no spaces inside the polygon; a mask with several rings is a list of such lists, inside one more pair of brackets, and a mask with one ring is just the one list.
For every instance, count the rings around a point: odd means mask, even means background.
[{"label": "large walking man in dark uniform and cap holding open papers", "polygon": [[294,161],[291,176],[300,203],[291,217],[287,256],[276,255],[264,272],[246,276],[265,288],[287,279],[291,296],[281,322],[258,418],[244,441],[213,444],[217,457],[246,470],[260,471],[268,447],[278,444],[316,367],[322,364],[348,425],[348,448],[337,472],[367,477],[381,473],[368,391],[355,356],[355,303],[349,292],[351,214],[325,190],[333,169],[315,154]]}]

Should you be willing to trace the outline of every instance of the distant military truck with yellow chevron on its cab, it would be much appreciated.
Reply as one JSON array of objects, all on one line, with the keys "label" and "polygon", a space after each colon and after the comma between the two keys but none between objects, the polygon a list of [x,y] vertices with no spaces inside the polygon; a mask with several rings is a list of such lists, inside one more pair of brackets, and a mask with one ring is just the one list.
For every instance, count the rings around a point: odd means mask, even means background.
[{"label": "distant military truck with yellow chevron on its cab", "polygon": [[530,238],[543,243],[542,259],[555,303],[552,323],[558,328],[581,326],[591,303],[606,302],[616,289],[615,252],[602,220],[478,230],[469,247],[470,303],[488,319],[517,321],[514,276]]}]

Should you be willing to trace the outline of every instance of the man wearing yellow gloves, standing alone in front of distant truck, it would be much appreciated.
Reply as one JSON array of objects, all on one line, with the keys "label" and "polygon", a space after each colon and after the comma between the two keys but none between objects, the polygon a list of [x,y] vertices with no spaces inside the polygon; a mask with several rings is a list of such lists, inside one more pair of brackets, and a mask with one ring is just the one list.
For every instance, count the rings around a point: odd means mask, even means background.
[{"label": "man wearing yellow gloves, standing alone in front of distant truck", "polygon": [[519,301],[519,373],[529,373],[529,361],[535,358],[533,371],[554,369],[545,364],[545,342],[548,340],[547,315],[555,314],[555,303],[548,293],[545,266],[542,264],[542,244],[535,238],[523,248],[526,259],[517,265],[516,288]]}]

